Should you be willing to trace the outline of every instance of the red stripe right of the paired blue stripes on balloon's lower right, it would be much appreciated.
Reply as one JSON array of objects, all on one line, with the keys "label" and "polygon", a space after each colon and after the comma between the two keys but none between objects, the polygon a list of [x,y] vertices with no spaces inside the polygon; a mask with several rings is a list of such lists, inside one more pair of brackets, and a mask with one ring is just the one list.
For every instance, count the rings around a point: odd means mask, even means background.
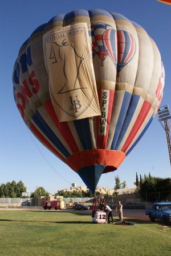
[{"label": "red stripe right of the paired blue stripes on balloon's lower right", "polygon": [[127,138],[127,141],[125,141],[125,144],[121,149],[121,151],[125,152],[128,149],[129,145],[133,141],[133,138],[135,138],[137,132],[139,131],[141,125],[143,125],[143,122],[146,116],[148,115],[150,108],[151,108],[151,104],[148,101],[144,101],[143,106],[141,107],[140,113],[136,119],[136,122],[133,125],[132,130],[129,133],[129,136]]}]

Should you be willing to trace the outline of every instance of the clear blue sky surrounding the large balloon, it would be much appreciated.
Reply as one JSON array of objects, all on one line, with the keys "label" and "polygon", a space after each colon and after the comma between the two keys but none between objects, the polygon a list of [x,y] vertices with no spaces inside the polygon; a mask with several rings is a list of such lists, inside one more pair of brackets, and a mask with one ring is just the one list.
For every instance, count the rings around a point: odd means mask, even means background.
[{"label": "clear blue sky surrounding the large balloon", "polygon": [[[72,182],[84,185],[79,175],[48,151],[35,137],[31,137],[13,98],[13,66],[22,43],[39,25],[58,14],[75,9],[104,9],[125,15],[139,23],[157,43],[165,66],[165,89],[161,106],[171,108],[171,6],[156,0],[113,1],[1,1],[0,8],[0,74],[1,74],[1,126],[0,126],[0,183],[19,181],[34,191],[43,186],[54,193],[70,187]],[[46,158],[46,160],[45,160]],[[56,171],[55,171],[55,170]],[[103,174],[99,185],[115,186],[115,176],[133,186],[136,171],[158,177],[170,177],[170,162],[165,131],[157,117],[139,144],[114,173]],[[64,180],[58,173],[64,177]]]}]

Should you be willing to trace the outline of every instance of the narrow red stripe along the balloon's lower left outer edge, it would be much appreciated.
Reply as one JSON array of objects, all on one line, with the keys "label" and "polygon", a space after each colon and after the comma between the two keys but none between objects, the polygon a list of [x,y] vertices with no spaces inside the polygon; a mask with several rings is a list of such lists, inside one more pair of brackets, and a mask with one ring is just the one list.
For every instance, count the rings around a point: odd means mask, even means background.
[{"label": "narrow red stripe along the balloon's lower left outer edge", "polygon": [[64,162],[66,162],[66,158],[64,158],[62,155],[59,154],[59,152],[51,145],[50,142],[47,141],[46,138],[43,137],[43,135],[40,133],[38,129],[31,123],[30,130],[35,135],[36,138],[38,138],[46,147],[51,150],[57,157],[62,159]]}]

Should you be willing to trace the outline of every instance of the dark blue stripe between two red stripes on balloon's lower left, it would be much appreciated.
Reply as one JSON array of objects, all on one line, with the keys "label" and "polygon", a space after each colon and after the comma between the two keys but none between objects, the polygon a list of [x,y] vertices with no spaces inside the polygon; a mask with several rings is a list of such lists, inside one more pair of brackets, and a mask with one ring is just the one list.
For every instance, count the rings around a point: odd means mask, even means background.
[{"label": "dark blue stripe between two red stripes on balloon's lower left", "polygon": [[32,116],[32,120],[36,123],[39,129],[46,135],[46,137],[55,145],[55,147],[65,156],[69,157],[70,153],[63,146],[62,142],[56,137],[55,133],[51,130],[51,128],[44,121],[39,111],[36,110],[35,115]]}]

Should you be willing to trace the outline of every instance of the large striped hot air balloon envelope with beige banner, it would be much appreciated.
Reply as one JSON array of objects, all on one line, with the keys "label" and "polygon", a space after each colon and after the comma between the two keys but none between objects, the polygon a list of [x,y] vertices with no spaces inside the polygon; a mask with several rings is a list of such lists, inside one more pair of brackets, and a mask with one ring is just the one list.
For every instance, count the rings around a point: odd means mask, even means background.
[{"label": "large striped hot air balloon envelope with beige banner", "polygon": [[28,128],[94,193],[101,174],[118,169],[157,113],[164,66],[137,23],[75,10],[23,43],[13,84]]}]

